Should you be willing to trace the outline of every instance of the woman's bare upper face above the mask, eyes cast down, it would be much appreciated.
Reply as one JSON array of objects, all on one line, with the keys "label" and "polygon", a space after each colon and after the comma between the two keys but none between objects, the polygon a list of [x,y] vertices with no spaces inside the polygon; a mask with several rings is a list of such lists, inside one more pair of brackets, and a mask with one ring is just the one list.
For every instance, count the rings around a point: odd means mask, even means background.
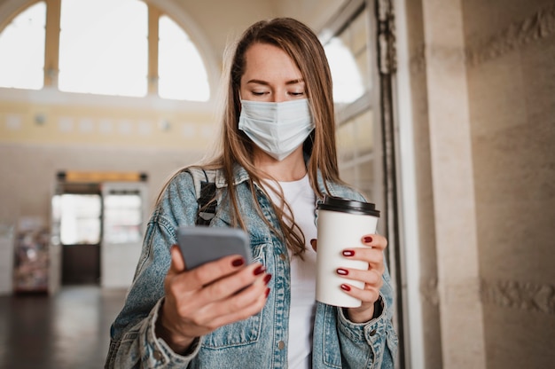
[{"label": "woman's bare upper face above the mask, eyes cast down", "polygon": [[246,50],[245,60],[242,99],[278,103],[307,98],[301,71],[277,46],[254,43]]}]

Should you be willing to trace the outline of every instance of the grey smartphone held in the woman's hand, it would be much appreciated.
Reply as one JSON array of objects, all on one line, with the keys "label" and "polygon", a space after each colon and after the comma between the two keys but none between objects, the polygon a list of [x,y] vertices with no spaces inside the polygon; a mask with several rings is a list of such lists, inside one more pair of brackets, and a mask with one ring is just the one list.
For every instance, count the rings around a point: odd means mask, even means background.
[{"label": "grey smartphone held in the woman's hand", "polygon": [[241,255],[246,264],[253,262],[248,236],[238,228],[182,226],[177,242],[187,270],[228,255]]}]

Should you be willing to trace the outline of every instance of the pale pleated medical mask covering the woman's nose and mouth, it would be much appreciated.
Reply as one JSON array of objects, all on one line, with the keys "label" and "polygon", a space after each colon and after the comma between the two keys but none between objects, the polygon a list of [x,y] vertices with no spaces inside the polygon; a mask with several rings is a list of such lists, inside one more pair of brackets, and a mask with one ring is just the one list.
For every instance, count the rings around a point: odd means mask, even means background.
[{"label": "pale pleated medical mask covering the woman's nose and mouth", "polygon": [[277,161],[283,161],[314,130],[307,98],[269,103],[241,100],[239,130]]}]

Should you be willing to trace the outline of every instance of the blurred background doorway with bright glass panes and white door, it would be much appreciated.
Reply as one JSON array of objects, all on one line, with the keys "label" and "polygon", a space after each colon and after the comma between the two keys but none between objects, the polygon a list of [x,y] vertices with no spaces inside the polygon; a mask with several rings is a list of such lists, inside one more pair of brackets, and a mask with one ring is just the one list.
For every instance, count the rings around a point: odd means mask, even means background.
[{"label": "blurred background doorway with bright glass panes and white door", "polygon": [[60,273],[61,285],[129,287],[144,235],[146,176],[140,179],[72,182],[59,176],[51,225],[59,253],[51,253],[51,268],[59,270],[54,274]]}]

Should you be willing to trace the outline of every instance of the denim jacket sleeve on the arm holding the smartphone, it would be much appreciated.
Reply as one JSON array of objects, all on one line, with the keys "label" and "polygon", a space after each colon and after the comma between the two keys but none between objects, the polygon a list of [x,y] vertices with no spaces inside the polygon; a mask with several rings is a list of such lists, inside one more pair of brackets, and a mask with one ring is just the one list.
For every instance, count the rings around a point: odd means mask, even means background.
[{"label": "denim jacket sleeve on the arm holding the smartphone", "polygon": [[190,355],[176,355],[154,333],[170,263],[169,247],[176,244],[179,225],[194,223],[196,211],[192,177],[180,174],[168,185],[148,223],[133,284],[111,328],[106,368],[183,368],[198,353],[196,342]]}]

